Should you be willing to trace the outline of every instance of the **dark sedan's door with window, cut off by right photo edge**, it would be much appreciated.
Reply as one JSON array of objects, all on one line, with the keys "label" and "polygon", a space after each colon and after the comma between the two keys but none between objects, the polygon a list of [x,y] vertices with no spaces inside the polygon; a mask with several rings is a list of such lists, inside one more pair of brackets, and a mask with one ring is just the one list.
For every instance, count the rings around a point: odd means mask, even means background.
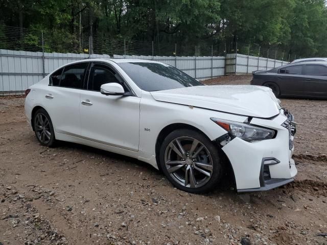
[{"label": "dark sedan's door with window, cut off by right photo edge", "polygon": [[305,95],[327,97],[327,67],[320,64],[307,64]]}]

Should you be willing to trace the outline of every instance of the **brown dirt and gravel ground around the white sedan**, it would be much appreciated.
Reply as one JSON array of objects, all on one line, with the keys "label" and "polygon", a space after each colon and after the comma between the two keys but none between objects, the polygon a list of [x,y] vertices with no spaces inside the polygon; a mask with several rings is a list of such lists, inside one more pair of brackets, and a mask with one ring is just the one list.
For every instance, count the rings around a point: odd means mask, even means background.
[{"label": "brown dirt and gravel ground around the white sedan", "polygon": [[327,101],[281,100],[298,122],[296,180],[250,195],[223,183],[197,195],[131,158],[41,146],[24,98],[0,97],[0,245],[327,244]]}]

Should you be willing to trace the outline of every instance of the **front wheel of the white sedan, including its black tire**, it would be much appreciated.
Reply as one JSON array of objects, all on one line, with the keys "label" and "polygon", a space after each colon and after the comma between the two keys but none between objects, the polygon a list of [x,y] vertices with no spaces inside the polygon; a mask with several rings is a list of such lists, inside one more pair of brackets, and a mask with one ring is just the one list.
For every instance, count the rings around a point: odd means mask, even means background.
[{"label": "front wheel of the white sedan, including its black tire", "polygon": [[159,164],[174,186],[191,193],[212,190],[222,176],[217,146],[205,135],[189,129],[175,130],[165,138]]}]

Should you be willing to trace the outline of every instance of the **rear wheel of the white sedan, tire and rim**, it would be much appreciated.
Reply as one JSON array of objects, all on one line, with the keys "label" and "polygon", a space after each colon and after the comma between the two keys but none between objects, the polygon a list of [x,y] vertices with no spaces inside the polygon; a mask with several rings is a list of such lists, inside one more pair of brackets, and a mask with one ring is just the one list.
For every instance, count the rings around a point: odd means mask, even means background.
[{"label": "rear wheel of the white sedan, tire and rim", "polygon": [[37,140],[44,146],[54,146],[55,131],[51,118],[43,108],[38,109],[33,117],[34,132]]}]

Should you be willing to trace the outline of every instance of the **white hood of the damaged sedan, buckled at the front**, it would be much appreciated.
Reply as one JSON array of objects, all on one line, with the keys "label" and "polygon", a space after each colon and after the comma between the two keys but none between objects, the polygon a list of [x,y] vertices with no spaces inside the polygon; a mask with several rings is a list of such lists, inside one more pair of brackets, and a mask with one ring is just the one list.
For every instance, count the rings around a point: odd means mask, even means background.
[{"label": "white hood of the damaged sedan, buckled at the front", "polygon": [[151,92],[156,101],[268,118],[281,107],[270,88],[253,85],[194,86]]}]

